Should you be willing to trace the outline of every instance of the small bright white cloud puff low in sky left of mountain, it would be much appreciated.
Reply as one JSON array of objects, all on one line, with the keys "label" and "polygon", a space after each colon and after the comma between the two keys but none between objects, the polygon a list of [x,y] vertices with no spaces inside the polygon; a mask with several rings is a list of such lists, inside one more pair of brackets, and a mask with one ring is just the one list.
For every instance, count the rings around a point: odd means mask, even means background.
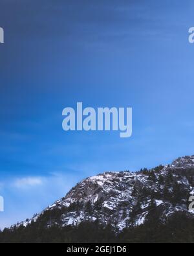
[{"label": "small bright white cloud puff low in sky left of mountain", "polygon": [[25,177],[20,178],[14,181],[14,187],[17,188],[26,188],[26,187],[34,187],[37,185],[42,185],[43,180],[39,177]]}]

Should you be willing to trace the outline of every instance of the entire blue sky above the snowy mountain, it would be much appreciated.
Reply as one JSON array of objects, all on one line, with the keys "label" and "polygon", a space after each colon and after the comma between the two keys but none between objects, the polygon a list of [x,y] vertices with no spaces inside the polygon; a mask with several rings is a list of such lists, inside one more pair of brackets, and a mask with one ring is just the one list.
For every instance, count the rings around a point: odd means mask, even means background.
[{"label": "entire blue sky above the snowy mountain", "polygon": [[[0,227],[87,176],[193,150],[193,1],[0,0]],[[63,108],[132,107],[133,136],[65,133]]]}]

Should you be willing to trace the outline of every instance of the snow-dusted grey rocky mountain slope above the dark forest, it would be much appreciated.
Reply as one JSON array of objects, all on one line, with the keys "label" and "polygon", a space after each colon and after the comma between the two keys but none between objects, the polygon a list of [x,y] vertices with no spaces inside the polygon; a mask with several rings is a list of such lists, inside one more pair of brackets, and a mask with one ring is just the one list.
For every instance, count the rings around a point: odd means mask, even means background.
[{"label": "snow-dusted grey rocky mountain slope above the dark forest", "polygon": [[[194,156],[171,165],[140,172],[105,172],[87,178],[39,215],[18,226],[48,218],[46,226],[76,226],[84,221],[111,224],[115,231],[144,224],[155,207],[161,221],[175,213],[191,218],[189,196],[194,194]],[[47,216],[47,218],[45,217]]]}]

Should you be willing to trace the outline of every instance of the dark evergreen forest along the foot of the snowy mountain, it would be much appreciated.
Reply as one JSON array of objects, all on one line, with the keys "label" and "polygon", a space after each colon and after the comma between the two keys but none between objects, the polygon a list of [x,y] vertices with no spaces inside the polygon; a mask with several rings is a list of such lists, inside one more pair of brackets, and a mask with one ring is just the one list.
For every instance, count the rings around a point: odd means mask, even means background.
[{"label": "dark evergreen forest along the foot of the snowy mountain", "polygon": [[193,243],[194,219],[175,214],[166,223],[148,216],[142,226],[128,227],[115,233],[111,226],[96,222],[84,222],[77,227],[52,226],[45,228],[42,222],[27,227],[5,229],[0,233],[1,243]]}]

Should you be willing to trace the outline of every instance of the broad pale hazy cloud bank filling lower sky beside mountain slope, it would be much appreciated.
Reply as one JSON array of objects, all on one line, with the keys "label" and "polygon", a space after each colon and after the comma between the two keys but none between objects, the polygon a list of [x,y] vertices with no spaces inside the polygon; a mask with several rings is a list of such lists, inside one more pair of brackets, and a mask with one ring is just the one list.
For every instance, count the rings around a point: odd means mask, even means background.
[{"label": "broad pale hazy cloud bank filling lower sky beside mountain slope", "polygon": [[[5,199],[5,212],[0,214],[0,228],[9,227],[39,213],[62,198],[83,174],[52,172],[47,176],[15,176],[0,181],[0,195]],[[2,186],[1,186],[2,185]]]}]

